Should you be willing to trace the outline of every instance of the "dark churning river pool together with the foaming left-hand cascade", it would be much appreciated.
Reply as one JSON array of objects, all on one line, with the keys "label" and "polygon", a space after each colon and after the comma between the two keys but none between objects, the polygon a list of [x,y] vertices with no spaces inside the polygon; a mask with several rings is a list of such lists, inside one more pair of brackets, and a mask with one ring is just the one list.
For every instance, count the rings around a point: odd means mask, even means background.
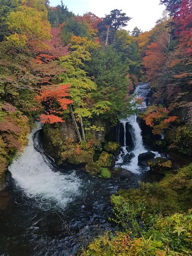
[{"label": "dark churning river pool together with the foaming left-hand cascade", "polygon": [[75,255],[96,235],[116,229],[108,221],[111,194],[135,188],[139,180],[161,178],[134,168],[111,179],[90,176],[77,166],[58,168],[43,151],[39,125],[9,171],[0,191],[0,255],[11,256]]}]

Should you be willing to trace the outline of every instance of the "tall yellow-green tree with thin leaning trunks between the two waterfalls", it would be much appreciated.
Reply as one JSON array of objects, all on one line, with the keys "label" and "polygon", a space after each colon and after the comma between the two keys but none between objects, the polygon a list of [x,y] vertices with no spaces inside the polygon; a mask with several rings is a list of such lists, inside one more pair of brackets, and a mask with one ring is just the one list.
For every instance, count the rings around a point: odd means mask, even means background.
[{"label": "tall yellow-green tree with thin leaning trunks between the two waterfalls", "polygon": [[[108,111],[111,105],[107,100],[94,103],[92,94],[97,86],[83,70],[84,62],[91,60],[90,51],[98,47],[97,43],[85,37],[72,36],[69,44],[70,54],[62,58],[65,72],[60,75],[60,79],[70,84],[70,98],[73,100],[73,104],[70,104],[70,112],[80,142],[82,138],[86,141],[85,129],[92,129],[89,119],[94,114],[99,115]],[[78,123],[81,126],[81,133]]]}]

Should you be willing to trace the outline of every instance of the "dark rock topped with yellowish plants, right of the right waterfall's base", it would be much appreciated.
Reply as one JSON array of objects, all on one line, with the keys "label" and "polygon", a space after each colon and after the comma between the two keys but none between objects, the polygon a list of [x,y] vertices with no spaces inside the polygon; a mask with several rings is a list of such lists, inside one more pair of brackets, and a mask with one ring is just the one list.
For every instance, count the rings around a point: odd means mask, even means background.
[{"label": "dark rock topped with yellowish plants, right of the right waterfall's base", "polygon": [[165,174],[172,167],[171,160],[162,157],[156,157],[147,161],[147,165],[152,172],[157,174]]}]

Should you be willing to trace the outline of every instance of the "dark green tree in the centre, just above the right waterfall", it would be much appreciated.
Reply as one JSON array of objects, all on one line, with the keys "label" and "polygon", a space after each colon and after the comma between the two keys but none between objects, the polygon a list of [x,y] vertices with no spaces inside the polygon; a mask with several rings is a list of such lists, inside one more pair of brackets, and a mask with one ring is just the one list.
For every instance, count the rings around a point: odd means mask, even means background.
[{"label": "dark green tree in the centre, just above the right waterfall", "polygon": [[97,85],[93,99],[107,100],[113,104],[103,118],[111,120],[111,123],[116,125],[117,117],[134,112],[128,97],[128,66],[122,62],[120,54],[113,47],[94,50],[85,69]]}]

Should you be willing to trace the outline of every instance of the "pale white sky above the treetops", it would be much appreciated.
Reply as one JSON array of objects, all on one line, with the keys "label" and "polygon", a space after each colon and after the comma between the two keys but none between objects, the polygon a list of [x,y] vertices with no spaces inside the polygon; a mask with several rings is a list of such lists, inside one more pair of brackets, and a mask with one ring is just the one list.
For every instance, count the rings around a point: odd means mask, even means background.
[{"label": "pale white sky above the treetops", "polygon": [[[60,4],[60,0],[49,0],[51,6]],[[63,0],[69,11],[82,15],[92,12],[98,17],[105,17],[113,9],[122,9],[127,16],[132,17],[127,30],[137,26],[143,31],[149,31],[162,16],[165,7],[159,5],[160,0]]]}]

